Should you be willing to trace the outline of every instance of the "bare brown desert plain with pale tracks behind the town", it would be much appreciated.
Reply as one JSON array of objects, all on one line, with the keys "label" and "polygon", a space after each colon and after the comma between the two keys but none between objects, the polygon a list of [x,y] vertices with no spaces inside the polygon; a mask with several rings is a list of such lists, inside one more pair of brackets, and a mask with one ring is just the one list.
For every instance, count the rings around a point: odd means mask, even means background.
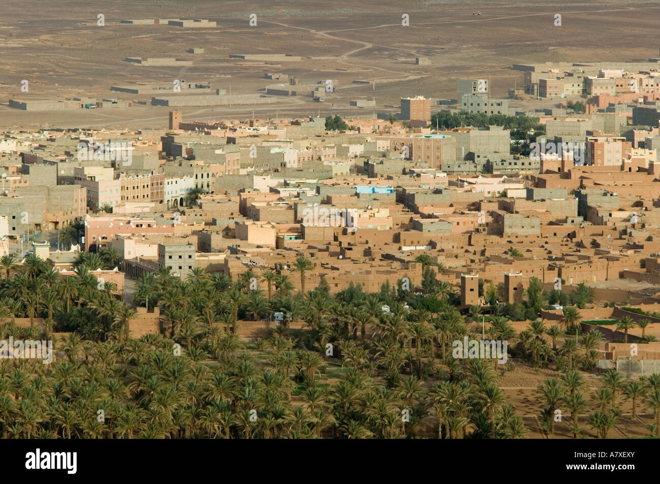
[{"label": "bare brown desert plain with pale tracks behind the town", "polygon": [[[560,27],[554,26],[556,13]],[[99,14],[104,26],[97,24]],[[257,26],[249,25],[251,14]],[[409,26],[402,26],[404,14]],[[217,25],[119,23],[154,17],[206,18]],[[301,82],[333,78],[337,92],[324,103],[296,96],[268,106],[187,107],[184,119],[373,114],[350,107],[354,98],[375,98],[376,111],[396,112],[401,97],[455,98],[456,79],[467,76],[488,76],[494,96],[504,97],[523,82],[512,63],[655,57],[659,24],[660,6],[651,1],[6,1],[0,13],[0,127],[160,127],[168,107],[21,111],[7,104],[77,96],[148,102],[149,95],[111,92],[110,86],[172,84],[176,78],[257,94],[277,82],[265,79],[266,72]],[[188,53],[191,47],[205,52]],[[232,53],[287,53],[302,61],[244,61],[230,59]],[[125,57],[193,63],[145,67]],[[430,64],[416,65],[415,57]],[[27,93],[20,91],[22,80],[29,82]]]}]

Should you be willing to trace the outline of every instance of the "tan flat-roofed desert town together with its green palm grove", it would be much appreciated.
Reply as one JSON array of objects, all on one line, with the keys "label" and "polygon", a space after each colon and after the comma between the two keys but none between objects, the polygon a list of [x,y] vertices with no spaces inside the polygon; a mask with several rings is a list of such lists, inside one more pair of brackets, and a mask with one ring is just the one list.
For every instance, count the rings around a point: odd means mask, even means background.
[{"label": "tan flat-roofed desert town together with its green palm grove", "polygon": [[385,104],[295,53],[186,71],[218,26],[122,18],[192,46],[0,95],[34,116],[0,129],[3,439],[660,437],[660,57]]}]

